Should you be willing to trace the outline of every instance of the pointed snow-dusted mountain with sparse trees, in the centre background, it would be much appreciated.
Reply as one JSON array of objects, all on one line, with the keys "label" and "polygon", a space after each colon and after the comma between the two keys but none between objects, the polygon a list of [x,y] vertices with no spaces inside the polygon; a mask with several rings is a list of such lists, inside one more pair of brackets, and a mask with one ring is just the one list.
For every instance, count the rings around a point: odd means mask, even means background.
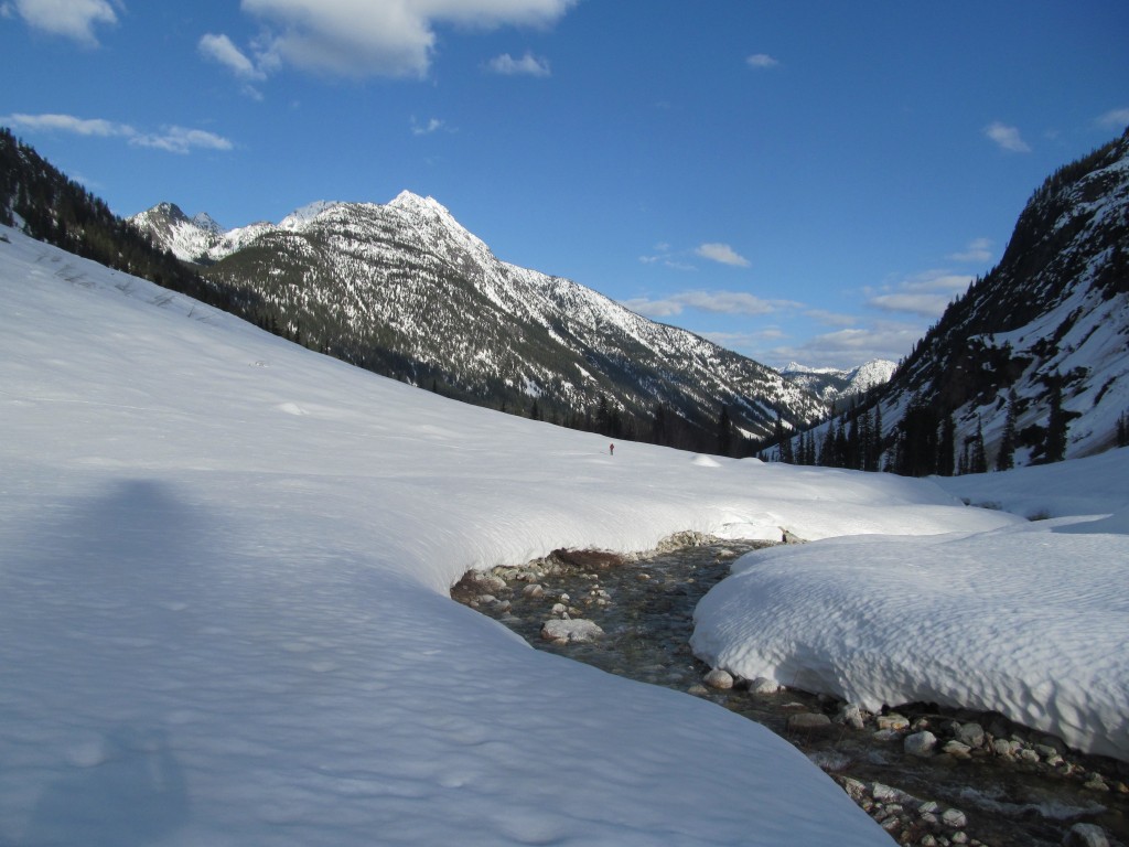
[{"label": "pointed snow-dusted mountain with sparse trees, in the centre background", "polygon": [[[130,219],[264,325],[470,402],[677,446],[814,424],[826,404],[778,372],[571,280],[498,260],[431,198],[321,202],[222,230],[160,203]],[[597,420],[603,416],[603,421]],[[655,431],[647,431],[648,428]]]}]

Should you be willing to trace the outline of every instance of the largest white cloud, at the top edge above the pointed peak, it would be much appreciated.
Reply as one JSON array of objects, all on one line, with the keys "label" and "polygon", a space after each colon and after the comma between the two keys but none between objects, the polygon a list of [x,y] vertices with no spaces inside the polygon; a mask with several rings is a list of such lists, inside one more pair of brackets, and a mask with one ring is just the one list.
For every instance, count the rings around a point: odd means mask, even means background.
[{"label": "largest white cloud, at the top edge above the pointed peak", "polygon": [[[255,67],[283,63],[340,77],[423,77],[437,24],[545,26],[578,0],[243,0],[269,27]],[[531,56],[532,59],[532,56]],[[525,60],[514,60],[522,66]],[[537,60],[533,60],[536,62]],[[542,66],[548,71],[548,64]],[[526,68],[524,72],[530,72]]]}]

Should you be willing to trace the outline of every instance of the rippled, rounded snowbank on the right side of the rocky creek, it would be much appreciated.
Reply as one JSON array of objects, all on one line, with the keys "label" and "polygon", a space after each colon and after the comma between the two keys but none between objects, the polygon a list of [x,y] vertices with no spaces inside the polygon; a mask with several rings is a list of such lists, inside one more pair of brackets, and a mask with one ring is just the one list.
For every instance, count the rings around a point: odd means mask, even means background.
[{"label": "rippled, rounded snowbank on the right side of the rocky creek", "polygon": [[997,710],[1129,760],[1127,472],[1129,451],[1119,451],[940,481],[1021,512],[1118,509],[1101,519],[746,556],[699,604],[694,650],[742,676],[872,710],[914,701]]}]

